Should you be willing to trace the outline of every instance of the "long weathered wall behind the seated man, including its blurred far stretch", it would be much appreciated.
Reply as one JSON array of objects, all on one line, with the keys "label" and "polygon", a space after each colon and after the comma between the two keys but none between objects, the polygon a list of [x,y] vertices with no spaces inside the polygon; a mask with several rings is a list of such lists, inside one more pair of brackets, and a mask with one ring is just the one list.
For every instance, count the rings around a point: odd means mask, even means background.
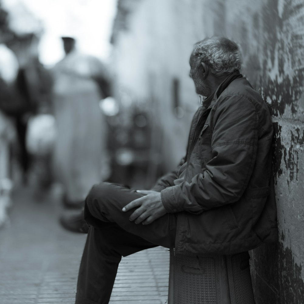
[{"label": "long weathered wall behind the seated man, including its blurred far stretch", "polygon": [[303,17],[297,0],[120,0],[113,26],[117,90],[127,88],[154,109],[167,170],[185,153],[199,106],[189,78],[193,44],[212,35],[240,44],[241,72],[268,102],[275,126],[280,242],[250,252],[257,304],[304,298]]}]

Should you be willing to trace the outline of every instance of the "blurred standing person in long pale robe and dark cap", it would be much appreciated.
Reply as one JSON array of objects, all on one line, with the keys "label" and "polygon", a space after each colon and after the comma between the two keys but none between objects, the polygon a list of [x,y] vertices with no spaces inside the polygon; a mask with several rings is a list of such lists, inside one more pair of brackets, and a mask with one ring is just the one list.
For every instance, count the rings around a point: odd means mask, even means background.
[{"label": "blurred standing person in long pale robe and dark cap", "polygon": [[64,187],[65,206],[81,208],[92,185],[103,178],[107,125],[99,101],[111,95],[111,83],[101,61],[78,51],[73,36],[62,41],[66,56],[52,69],[54,173]]}]

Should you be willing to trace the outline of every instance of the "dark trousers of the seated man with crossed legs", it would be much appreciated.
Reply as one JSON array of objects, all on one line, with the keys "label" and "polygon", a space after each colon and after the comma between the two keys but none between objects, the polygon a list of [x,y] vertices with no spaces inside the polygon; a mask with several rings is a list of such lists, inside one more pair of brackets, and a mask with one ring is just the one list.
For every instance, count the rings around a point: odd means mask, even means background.
[{"label": "dark trousers of the seated man with crossed legs", "polygon": [[85,201],[90,224],[79,268],[75,304],[107,304],[122,256],[156,247],[174,247],[176,214],[166,214],[149,225],[129,220],[133,210],[122,208],[143,195],[119,185],[93,186]]}]

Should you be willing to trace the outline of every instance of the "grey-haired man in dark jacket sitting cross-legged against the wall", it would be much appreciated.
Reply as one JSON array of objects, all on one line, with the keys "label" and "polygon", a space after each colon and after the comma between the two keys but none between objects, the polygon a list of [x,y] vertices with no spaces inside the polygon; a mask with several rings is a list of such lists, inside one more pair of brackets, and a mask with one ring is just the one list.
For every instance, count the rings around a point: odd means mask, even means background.
[{"label": "grey-haired man in dark jacket sitting cross-legged against the wall", "polygon": [[76,303],[108,303],[121,257],[139,250],[161,245],[175,254],[226,255],[277,240],[271,117],[240,67],[234,42],[196,43],[190,77],[206,99],[185,158],[151,191],[108,183],[91,189]]}]

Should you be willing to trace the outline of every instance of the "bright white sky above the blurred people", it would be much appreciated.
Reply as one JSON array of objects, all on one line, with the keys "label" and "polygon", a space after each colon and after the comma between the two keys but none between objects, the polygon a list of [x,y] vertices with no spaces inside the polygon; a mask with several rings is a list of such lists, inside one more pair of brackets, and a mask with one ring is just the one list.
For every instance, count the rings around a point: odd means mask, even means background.
[{"label": "bright white sky above the blurred people", "polygon": [[2,0],[12,15],[12,24],[20,31],[30,28],[24,12],[20,13],[22,3],[43,22],[40,60],[46,65],[53,65],[64,56],[60,36],[76,37],[80,50],[106,61],[111,50],[109,40],[116,2],[117,0]]}]

